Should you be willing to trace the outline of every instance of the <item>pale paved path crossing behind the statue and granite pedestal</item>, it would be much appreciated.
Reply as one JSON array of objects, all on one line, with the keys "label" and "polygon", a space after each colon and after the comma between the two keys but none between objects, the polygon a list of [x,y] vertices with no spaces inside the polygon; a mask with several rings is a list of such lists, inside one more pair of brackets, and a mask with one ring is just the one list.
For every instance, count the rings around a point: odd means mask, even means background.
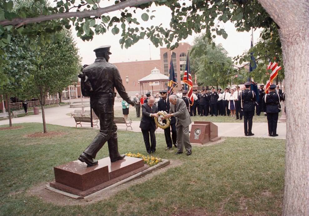
[{"label": "pale paved path crossing behind the statue and granite pedestal", "polygon": [[[115,109],[120,109],[120,102],[115,102]],[[45,119],[48,124],[55,124],[61,126],[75,127],[76,123],[74,118],[66,115],[74,111],[76,108],[69,108],[69,105],[64,105],[60,107],[53,107],[45,109]],[[87,107],[85,110],[89,110]],[[24,122],[39,122],[42,123],[42,115],[29,115],[25,117],[12,118],[12,123],[24,123]],[[0,125],[8,124],[8,119],[0,120]],[[243,134],[243,123],[227,123],[227,122],[215,122],[218,126],[218,136],[220,137],[245,137]],[[85,127],[90,127],[90,125],[84,125]],[[140,131],[140,122],[133,121],[132,128],[134,132]],[[96,127],[94,127],[96,128]],[[122,124],[118,125],[118,130],[125,130],[125,126]],[[130,129],[129,129],[130,130]],[[163,133],[164,131],[161,128],[158,128],[157,133]],[[268,137],[267,123],[253,123],[252,132],[255,134],[253,137],[263,137],[263,138],[276,138],[276,139],[285,139],[286,138],[286,123],[278,123],[277,133],[278,137]]]}]

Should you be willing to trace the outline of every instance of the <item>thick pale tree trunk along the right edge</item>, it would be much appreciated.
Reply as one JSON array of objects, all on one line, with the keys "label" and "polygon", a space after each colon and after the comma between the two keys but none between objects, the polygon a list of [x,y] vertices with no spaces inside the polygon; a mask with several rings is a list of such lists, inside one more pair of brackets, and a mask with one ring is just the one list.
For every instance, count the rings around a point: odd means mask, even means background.
[{"label": "thick pale tree trunk along the right edge", "polygon": [[259,0],[280,26],[285,69],[287,140],[283,215],[309,215],[309,1]]}]

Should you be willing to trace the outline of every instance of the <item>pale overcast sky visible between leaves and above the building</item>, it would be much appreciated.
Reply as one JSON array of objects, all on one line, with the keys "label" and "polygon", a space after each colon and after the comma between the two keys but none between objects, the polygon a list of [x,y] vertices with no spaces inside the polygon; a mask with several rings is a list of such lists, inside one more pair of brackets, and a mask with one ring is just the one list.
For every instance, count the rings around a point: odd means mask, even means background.
[{"label": "pale overcast sky visible between leaves and above the building", "polygon": [[[106,2],[106,1],[101,1]],[[110,2],[108,2],[110,4]],[[100,3],[101,7],[105,7]],[[169,27],[169,22],[171,19],[171,11],[168,7],[155,7],[153,4],[150,11],[156,10],[155,12],[151,13],[154,15],[155,18],[153,20],[148,20],[147,22],[142,21],[141,14],[145,11],[137,10],[137,14],[133,16],[138,19],[141,26],[157,26],[159,24],[163,24],[163,27]],[[133,12],[132,12],[133,14]],[[119,16],[120,11],[109,13],[112,16]],[[225,31],[228,33],[228,38],[223,39],[221,36],[217,36],[214,41],[216,44],[221,43],[223,47],[228,51],[229,56],[234,57],[236,55],[241,55],[245,50],[250,48],[250,40],[251,40],[251,32],[237,32],[236,28],[234,27],[233,23],[220,23],[224,26]],[[127,61],[143,61],[149,60],[150,55],[152,60],[160,59],[160,47],[156,48],[149,39],[140,40],[135,45],[129,47],[128,49],[121,49],[119,40],[121,38],[121,27],[120,33],[118,35],[113,35],[111,33],[111,29],[109,32],[105,33],[104,35],[95,35],[92,41],[82,41],[80,38],[76,37],[76,31],[73,29],[73,35],[76,39],[77,46],[79,48],[80,55],[82,57],[82,64],[91,64],[95,60],[95,53],[93,50],[96,47],[103,46],[103,45],[110,45],[112,55],[110,55],[110,62],[127,62]],[[260,31],[257,30],[253,34],[254,43],[257,42],[259,37]],[[187,42],[190,45],[193,44],[194,37],[197,35],[194,34],[193,36],[189,36],[187,39],[181,42]],[[149,45],[150,44],[150,45]]]}]

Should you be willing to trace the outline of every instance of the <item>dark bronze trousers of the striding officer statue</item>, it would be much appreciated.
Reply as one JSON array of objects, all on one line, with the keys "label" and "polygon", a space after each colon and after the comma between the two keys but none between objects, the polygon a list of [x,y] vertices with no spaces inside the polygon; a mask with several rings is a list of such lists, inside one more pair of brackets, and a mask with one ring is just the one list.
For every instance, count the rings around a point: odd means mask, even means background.
[{"label": "dark bronze trousers of the striding officer statue", "polygon": [[114,100],[111,98],[91,98],[91,106],[100,119],[100,132],[96,135],[84,153],[96,158],[97,152],[107,141],[110,160],[120,156],[118,151],[117,126],[114,122]]}]

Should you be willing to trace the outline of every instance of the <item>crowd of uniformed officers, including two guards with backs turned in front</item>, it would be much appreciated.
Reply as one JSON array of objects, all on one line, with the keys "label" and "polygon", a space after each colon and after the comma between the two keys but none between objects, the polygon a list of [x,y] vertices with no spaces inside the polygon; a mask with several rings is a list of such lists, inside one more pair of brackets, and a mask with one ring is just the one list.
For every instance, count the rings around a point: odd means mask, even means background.
[{"label": "crowd of uniformed officers, including two guards with backs turned in front", "polygon": [[284,100],[285,94],[279,89],[277,85],[270,86],[270,93],[265,94],[264,85],[260,85],[259,99],[255,92],[250,89],[251,82],[244,84],[241,89],[240,86],[235,88],[226,88],[224,92],[222,89],[211,88],[202,89],[201,91],[193,91],[194,103],[189,105],[189,98],[187,90],[180,90],[179,93],[174,93],[177,97],[182,98],[188,108],[191,116],[236,116],[236,119],[244,121],[245,136],[253,136],[252,122],[253,116],[259,116],[261,112],[267,115],[268,135],[271,137],[278,136],[277,121],[279,112],[281,110],[280,101]]}]

